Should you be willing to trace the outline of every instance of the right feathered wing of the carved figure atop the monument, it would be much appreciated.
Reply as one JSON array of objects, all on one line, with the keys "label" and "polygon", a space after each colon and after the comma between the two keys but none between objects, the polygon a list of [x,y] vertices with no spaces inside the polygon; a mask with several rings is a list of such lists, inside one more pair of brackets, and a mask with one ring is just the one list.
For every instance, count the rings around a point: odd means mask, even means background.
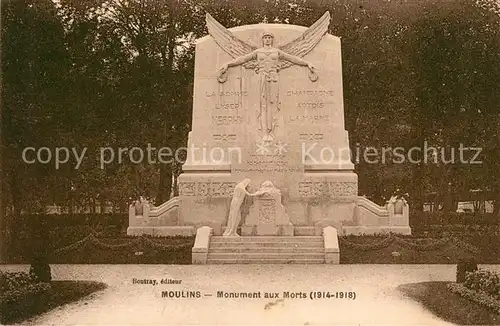
[{"label": "right feathered wing of the carved figure atop the monument", "polygon": [[[290,43],[280,46],[280,49],[288,54],[295,55],[297,57],[303,57],[321,41],[323,35],[328,31],[328,26],[330,25],[330,12],[325,12],[320,19],[318,19],[314,24],[309,27],[304,34],[299,38],[296,38]],[[291,62],[281,60],[280,69],[290,67]]]}]

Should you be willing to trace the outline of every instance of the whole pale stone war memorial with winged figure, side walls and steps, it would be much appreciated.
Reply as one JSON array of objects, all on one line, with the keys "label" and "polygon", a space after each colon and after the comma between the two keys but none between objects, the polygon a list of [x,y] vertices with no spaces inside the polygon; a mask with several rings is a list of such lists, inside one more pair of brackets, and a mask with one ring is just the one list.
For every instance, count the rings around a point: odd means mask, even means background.
[{"label": "whole pale stone war memorial with winged figure, side walls and steps", "polygon": [[338,235],[410,234],[406,202],[358,195],[330,14],[309,28],[206,22],[179,196],[131,206],[127,233],[196,235],[196,264],[338,263]]}]

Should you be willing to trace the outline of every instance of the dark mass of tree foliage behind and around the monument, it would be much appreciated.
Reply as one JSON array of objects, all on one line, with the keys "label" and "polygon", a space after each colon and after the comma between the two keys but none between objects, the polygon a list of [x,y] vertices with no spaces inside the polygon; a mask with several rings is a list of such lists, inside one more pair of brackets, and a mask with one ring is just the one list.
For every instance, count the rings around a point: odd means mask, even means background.
[{"label": "dark mass of tree foliage behind and around the monument", "polygon": [[[101,169],[99,148],[184,146],[190,130],[196,38],[205,13],[224,26],[309,26],[325,10],[342,38],[346,129],[356,148],[483,149],[478,166],[359,162],[360,191],[396,188],[421,208],[469,189],[500,206],[500,16],[494,2],[382,0],[15,0],[2,3],[3,162],[6,207],[85,206],[129,197],[163,202],[176,164],[128,159]],[[32,147],[86,147],[74,159],[22,163]],[[421,156],[423,158],[423,156]],[[174,187],[175,192],[175,187]],[[451,209],[451,208],[450,208]]]}]

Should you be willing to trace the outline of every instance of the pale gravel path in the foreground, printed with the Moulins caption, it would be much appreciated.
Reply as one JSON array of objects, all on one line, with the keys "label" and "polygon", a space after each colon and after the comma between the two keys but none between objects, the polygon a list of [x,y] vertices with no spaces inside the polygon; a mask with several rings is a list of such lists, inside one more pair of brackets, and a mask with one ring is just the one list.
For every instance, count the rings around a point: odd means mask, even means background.
[{"label": "pale gravel path in the foreground, printed with the Moulins caption", "polygon": [[[484,267],[500,271],[500,265]],[[56,280],[109,287],[23,325],[450,325],[396,287],[452,281],[455,265],[52,265],[52,273]],[[133,284],[134,278],[182,283]],[[162,291],[201,297],[162,298]],[[279,299],[217,298],[217,291],[277,292]],[[284,291],[308,298],[283,300]],[[356,298],[311,300],[311,291],[354,291]]]}]

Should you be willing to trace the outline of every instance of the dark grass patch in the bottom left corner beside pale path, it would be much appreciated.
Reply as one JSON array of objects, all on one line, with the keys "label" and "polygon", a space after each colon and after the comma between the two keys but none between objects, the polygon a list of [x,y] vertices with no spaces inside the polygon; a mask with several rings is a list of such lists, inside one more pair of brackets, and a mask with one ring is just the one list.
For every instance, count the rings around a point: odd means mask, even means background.
[{"label": "dark grass patch in the bottom left corner beside pale path", "polygon": [[30,302],[29,306],[16,306],[4,312],[0,322],[19,323],[106,287],[104,283],[93,281],[52,281],[50,290]]}]

